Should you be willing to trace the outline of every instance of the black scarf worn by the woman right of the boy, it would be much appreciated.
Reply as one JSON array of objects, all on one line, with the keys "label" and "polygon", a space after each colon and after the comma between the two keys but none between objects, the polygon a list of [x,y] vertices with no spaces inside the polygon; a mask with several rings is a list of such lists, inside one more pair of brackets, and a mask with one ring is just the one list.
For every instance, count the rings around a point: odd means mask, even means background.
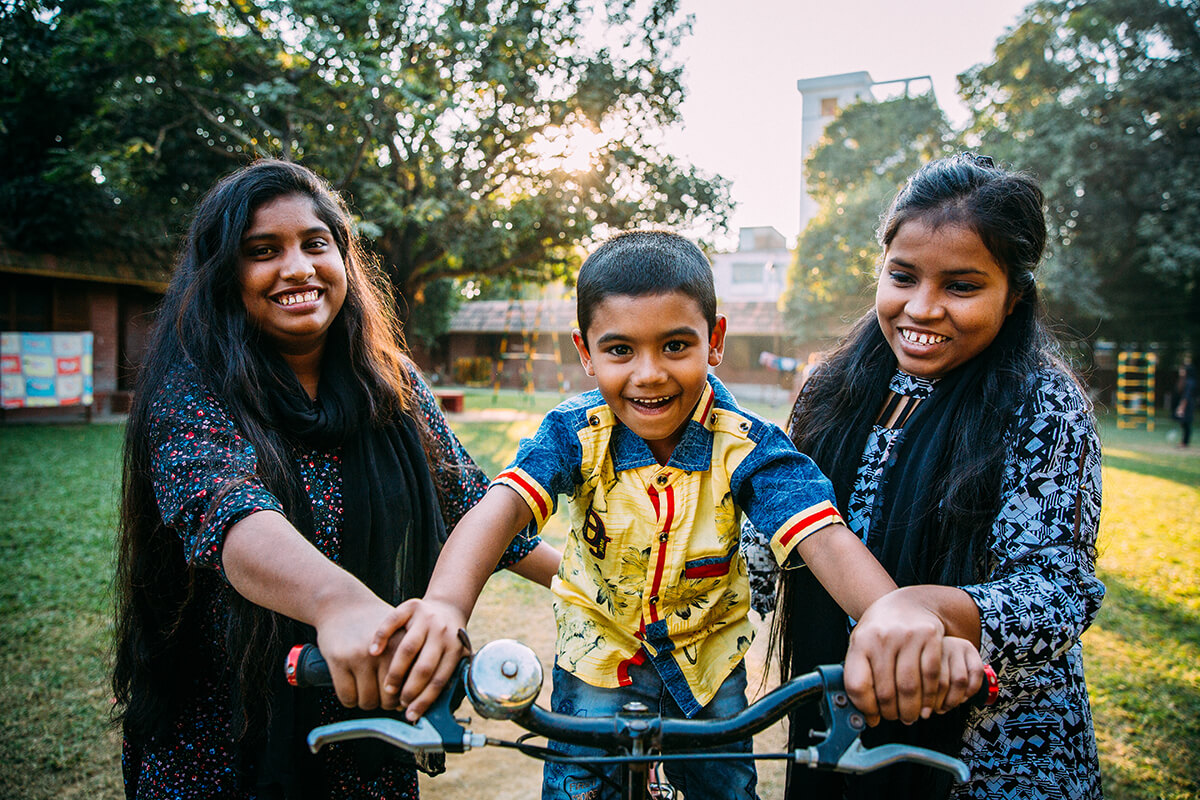
[{"label": "black scarf worn by the woman right of the boy", "polygon": [[[973,566],[974,554],[955,555],[954,564],[943,564],[940,554],[930,552],[928,543],[936,524],[940,493],[932,480],[944,471],[952,447],[955,410],[977,393],[978,380],[986,368],[984,359],[976,357],[942,378],[932,395],[923,401],[904,426],[904,433],[888,458],[881,487],[881,509],[868,534],[866,546],[888,575],[900,587],[919,583],[955,585],[966,583],[962,576]],[[865,446],[866,437],[862,437]],[[862,452],[862,447],[859,449]],[[853,487],[846,491],[848,498]],[[793,600],[788,608],[808,608],[811,627],[805,631],[804,648],[798,649],[793,670],[808,672],[818,663],[835,663],[845,658],[848,644],[846,614],[838,607],[811,572],[792,576],[790,591]],[[944,715],[919,720],[912,726],[882,722],[863,734],[863,745],[875,747],[887,742],[902,742],[958,756],[967,710],[955,709]],[[805,744],[805,732],[821,729],[815,709],[796,715],[791,723],[792,744]],[[899,764],[866,775],[845,778],[833,772],[788,769],[787,798],[790,800],[834,800],[848,798],[870,800],[935,800],[950,790],[950,776],[942,770],[912,764]]]}]

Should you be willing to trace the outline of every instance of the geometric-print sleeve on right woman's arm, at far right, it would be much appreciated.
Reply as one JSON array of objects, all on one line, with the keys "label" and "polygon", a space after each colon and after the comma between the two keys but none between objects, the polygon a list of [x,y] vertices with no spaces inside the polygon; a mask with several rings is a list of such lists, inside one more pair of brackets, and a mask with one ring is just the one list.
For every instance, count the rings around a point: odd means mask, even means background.
[{"label": "geometric-print sleeve on right woman's arm, at far right", "polygon": [[983,658],[1001,678],[1073,646],[1104,597],[1096,577],[1099,437],[1078,391],[1054,393],[1039,393],[1012,437],[990,579],[964,587],[979,607]]}]

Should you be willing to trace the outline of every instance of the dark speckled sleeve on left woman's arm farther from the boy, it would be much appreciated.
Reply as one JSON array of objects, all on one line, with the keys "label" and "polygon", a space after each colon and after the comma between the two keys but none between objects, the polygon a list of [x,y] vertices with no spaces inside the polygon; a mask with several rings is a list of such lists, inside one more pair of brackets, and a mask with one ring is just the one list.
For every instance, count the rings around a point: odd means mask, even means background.
[{"label": "dark speckled sleeve on left woman's arm farther from the boy", "polygon": [[253,445],[220,402],[176,373],[150,402],[150,474],[163,523],[184,541],[192,566],[223,575],[229,528],[283,506],[259,480]]}]

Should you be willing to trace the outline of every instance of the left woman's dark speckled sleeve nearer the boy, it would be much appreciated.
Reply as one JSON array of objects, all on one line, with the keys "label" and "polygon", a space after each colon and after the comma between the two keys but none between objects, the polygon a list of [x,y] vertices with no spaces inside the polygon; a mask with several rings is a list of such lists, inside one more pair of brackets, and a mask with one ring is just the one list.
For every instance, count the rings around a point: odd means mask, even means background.
[{"label": "left woman's dark speckled sleeve nearer the boy", "polygon": [[[445,415],[438,407],[437,398],[421,377],[414,372],[410,373],[410,378],[416,396],[418,411],[425,419],[425,426],[430,432],[430,462],[434,467],[433,480],[438,482],[442,517],[445,519],[446,530],[450,531],[458,524],[462,516],[487,493],[487,475],[450,429]],[[533,552],[540,541],[536,527],[530,523],[509,545],[496,570],[512,566]]]}]

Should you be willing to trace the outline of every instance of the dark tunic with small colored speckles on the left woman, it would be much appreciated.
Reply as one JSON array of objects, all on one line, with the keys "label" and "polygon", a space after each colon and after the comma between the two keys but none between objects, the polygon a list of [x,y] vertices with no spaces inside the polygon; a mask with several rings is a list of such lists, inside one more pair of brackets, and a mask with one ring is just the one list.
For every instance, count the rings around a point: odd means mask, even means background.
[{"label": "dark tunic with small colored speckles on the left woman", "polygon": [[[442,483],[443,516],[450,530],[468,509],[484,497],[488,480],[450,431],[428,387],[414,375],[416,411],[424,417],[437,452],[432,462],[460,463],[461,470],[438,470]],[[126,794],[138,799],[157,798],[253,798],[252,788],[240,786],[234,753],[230,686],[226,675],[227,652],[223,625],[233,591],[224,578],[221,548],[226,531],[246,516],[263,510],[282,513],[280,501],[256,477],[256,455],[221,403],[202,386],[194,371],[180,368],[161,386],[151,404],[152,480],[158,510],[166,524],[180,535],[196,570],[199,610],[197,628],[190,636],[199,643],[204,662],[190,700],[180,709],[174,730],[152,738],[140,747],[125,742]],[[337,561],[342,536],[342,453],[310,451],[298,456],[300,474],[312,501],[316,535],[313,545]],[[209,498],[235,481],[211,510]],[[536,537],[522,536],[505,553],[502,566],[527,555]],[[322,722],[346,717],[332,690],[322,700]],[[416,798],[415,770],[402,763],[389,764],[380,774],[362,775],[353,757],[337,745],[317,754],[329,777],[335,798]]]}]

